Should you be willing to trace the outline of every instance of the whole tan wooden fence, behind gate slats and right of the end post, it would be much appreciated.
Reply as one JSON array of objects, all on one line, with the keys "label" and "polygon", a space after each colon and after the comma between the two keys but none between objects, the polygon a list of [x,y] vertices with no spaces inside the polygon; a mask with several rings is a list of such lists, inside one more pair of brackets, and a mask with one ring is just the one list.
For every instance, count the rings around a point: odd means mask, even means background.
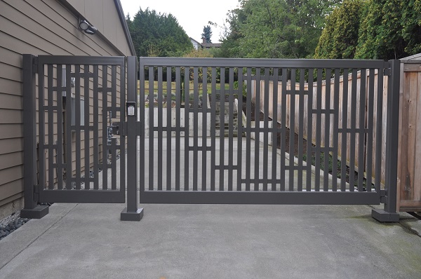
[{"label": "whole tan wooden fence, behind gate slats and right of the end post", "polygon": [[[398,198],[397,198],[397,209],[399,211],[421,211],[421,55],[415,55],[413,57],[408,57],[406,60],[402,60],[401,64],[401,90],[400,90],[400,115],[399,115],[399,153],[398,153]],[[379,84],[377,82],[378,73],[371,72],[374,74],[374,92],[377,92],[377,85]],[[365,75],[365,78],[361,79],[361,74]],[[361,90],[361,81],[364,81],[365,84],[365,90],[366,94],[357,94],[356,95],[356,106],[354,107],[354,110],[352,109],[352,102],[351,102],[351,90],[352,90],[352,74],[349,74],[347,77],[344,78],[344,76],[340,77],[340,85],[339,88],[339,112],[338,112],[338,120],[339,120],[339,127],[342,127],[342,123],[347,123],[347,127],[350,126],[352,118],[355,119],[357,128],[358,123],[360,123],[360,116],[364,116],[363,122],[366,123],[367,119],[367,113],[368,113],[368,88],[370,86],[370,70],[367,70],[366,72],[358,72],[357,74],[357,80],[356,80],[356,92],[360,92]],[[344,86],[344,81],[346,81],[348,84],[347,86]],[[328,83],[329,84],[329,83]],[[383,77],[383,98],[382,98],[382,156],[381,156],[381,177],[380,181],[382,184],[385,182],[385,158],[386,158],[386,123],[387,123],[387,76]],[[282,93],[282,82],[278,82],[278,114],[277,114],[277,120],[280,123],[281,122],[281,93]],[[300,83],[292,83],[292,86],[295,86],[295,90],[298,92],[300,90]],[[318,93],[317,84],[312,84],[312,94],[313,94],[313,100],[316,100],[316,94]],[[335,92],[335,83],[334,79],[330,80],[330,93]],[[252,88],[255,86],[252,85]],[[308,90],[309,84],[305,83],[305,88],[301,90]],[[269,81],[269,117],[274,118],[273,116],[273,90],[274,84],[273,81]],[[288,81],[286,90],[290,90],[291,83]],[[347,88],[347,94],[344,95],[344,88]],[[254,92],[256,90],[253,90]],[[365,104],[364,107],[361,107],[359,104],[361,104],[361,96],[364,96],[366,100],[363,102]],[[333,96],[333,95],[332,95]],[[343,97],[347,96],[348,100],[347,102],[342,102]],[[254,97],[254,96],[253,96]],[[316,118],[312,119],[312,123],[308,123],[307,119],[307,101],[308,97],[305,95],[304,97],[300,97],[300,95],[295,95],[295,102],[291,102],[292,95],[286,96],[286,123],[288,128],[293,128],[295,131],[298,131],[300,128],[300,125],[303,125],[303,137],[309,141],[307,136],[307,128],[308,125],[312,125],[312,143],[316,143],[316,129],[321,129],[323,132],[321,132],[321,146],[329,145],[330,147],[333,146],[333,115],[330,114],[330,126],[328,127],[329,133],[328,137],[325,136],[325,130],[326,130],[326,119],[325,116],[322,115],[321,117],[321,127],[316,126]],[[260,100],[265,99],[265,81],[260,81]],[[300,112],[300,102],[304,102],[304,105],[301,104],[301,107],[304,107],[304,111]],[[333,102],[334,97],[330,97],[330,101],[326,104],[326,81],[323,81],[321,83],[321,104],[322,109],[326,109],[328,105],[330,105],[330,108],[333,108]],[[377,96],[374,97],[374,125],[376,125],[378,119],[377,119]],[[262,104],[264,102],[260,102],[261,107],[260,111],[264,112],[264,107]],[[291,107],[291,104],[295,104],[294,107]],[[346,108],[343,104],[347,104]],[[315,106],[315,104],[314,104]],[[314,109],[313,106],[313,109]],[[347,115],[346,118],[344,118],[344,114],[342,114],[343,110],[346,109],[345,115]],[[361,109],[364,109],[364,113],[360,114]],[[303,123],[299,123],[298,119],[300,119],[300,113],[303,114]],[[292,114],[294,114],[293,117]],[[293,123],[291,123],[291,119],[294,119]],[[396,131],[398,132],[398,131]],[[361,141],[358,139],[358,135],[356,135],[355,139],[355,151],[354,154],[354,165],[355,170],[358,172],[361,170],[361,165],[359,165],[360,162],[363,162],[363,172],[364,175],[367,176],[366,173],[367,170],[367,163],[371,162],[373,164],[373,167],[370,168],[373,170],[372,175],[374,175],[374,165],[375,160],[367,160],[367,145],[373,144],[373,150],[375,147],[375,135],[373,135],[373,142],[368,142],[367,138],[363,140],[364,144],[364,158],[363,160],[359,160],[359,144],[361,144]],[[349,136],[347,138],[347,143],[349,143]],[[345,152],[342,152],[341,149],[342,146],[342,135],[338,136],[338,156],[346,156],[347,165],[349,165],[349,158],[351,155],[352,150],[349,148],[349,144],[347,145],[346,154]],[[373,154],[374,155],[374,154]],[[374,157],[374,156],[373,156]],[[374,178],[374,177],[373,177]]]}]

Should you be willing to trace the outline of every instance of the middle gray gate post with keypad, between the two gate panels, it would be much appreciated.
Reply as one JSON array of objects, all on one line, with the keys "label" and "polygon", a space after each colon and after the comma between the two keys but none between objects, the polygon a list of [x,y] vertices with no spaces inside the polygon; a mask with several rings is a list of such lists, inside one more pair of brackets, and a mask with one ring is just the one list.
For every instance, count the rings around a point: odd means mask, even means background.
[{"label": "middle gray gate post with keypad, between the two gate panels", "polygon": [[[138,209],[138,66],[135,56],[127,57],[127,207],[121,221],[140,221],[143,208]],[[128,104],[134,112],[128,113]],[[121,104],[124,105],[124,104]],[[125,170],[122,170],[125,171]]]}]

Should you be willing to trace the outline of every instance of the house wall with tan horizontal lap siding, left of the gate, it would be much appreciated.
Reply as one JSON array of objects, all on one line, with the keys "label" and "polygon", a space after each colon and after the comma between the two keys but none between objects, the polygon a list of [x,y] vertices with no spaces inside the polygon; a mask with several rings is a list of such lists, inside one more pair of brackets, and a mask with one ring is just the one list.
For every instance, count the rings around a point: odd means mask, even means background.
[{"label": "house wall with tan horizontal lap siding, left of the gate", "polygon": [[[98,32],[79,29],[81,19]],[[119,0],[0,0],[0,218],[23,207],[24,53],[128,56],[135,50]]]}]

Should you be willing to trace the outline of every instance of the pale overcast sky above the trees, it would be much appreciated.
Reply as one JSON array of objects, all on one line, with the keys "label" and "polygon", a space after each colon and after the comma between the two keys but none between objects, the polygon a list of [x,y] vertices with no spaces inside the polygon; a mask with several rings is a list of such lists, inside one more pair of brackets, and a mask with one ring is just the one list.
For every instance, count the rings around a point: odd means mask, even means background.
[{"label": "pale overcast sky above the trees", "polygon": [[[239,0],[120,0],[124,14],[133,19],[135,13],[142,8],[143,11],[155,10],[157,13],[171,13],[177,18],[180,26],[185,29],[189,37],[201,42],[203,27],[208,22],[215,22],[219,26],[225,22],[229,10],[239,4]],[[213,43],[218,43],[222,29],[211,27]]]}]

